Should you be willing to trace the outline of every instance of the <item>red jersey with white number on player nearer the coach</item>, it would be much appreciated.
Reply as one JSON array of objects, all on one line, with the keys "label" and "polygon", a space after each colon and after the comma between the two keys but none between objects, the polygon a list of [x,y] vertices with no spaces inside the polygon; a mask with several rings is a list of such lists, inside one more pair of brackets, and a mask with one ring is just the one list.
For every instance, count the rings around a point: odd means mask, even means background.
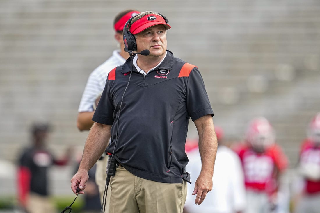
[{"label": "red jersey with white number on player nearer the coach", "polygon": [[239,155],[247,190],[273,193],[277,189],[277,172],[284,171],[288,159],[278,145],[272,145],[263,153],[257,153],[247,145],[235,149]]}]

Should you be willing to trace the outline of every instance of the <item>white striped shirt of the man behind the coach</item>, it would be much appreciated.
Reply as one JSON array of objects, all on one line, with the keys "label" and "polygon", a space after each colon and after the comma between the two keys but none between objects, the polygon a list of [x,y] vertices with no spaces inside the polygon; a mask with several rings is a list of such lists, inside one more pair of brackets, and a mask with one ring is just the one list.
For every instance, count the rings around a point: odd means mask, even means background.
[{"label": "white striped shirt of the man behind the coach", "polygon": [[84,88],[78,112],[92,112],[96,99],[101,95],[106,84],[108,73],[115,67],[124,64],[124,59],[119,51],[115,50],[112,56],[97,67],[90,74]]}]

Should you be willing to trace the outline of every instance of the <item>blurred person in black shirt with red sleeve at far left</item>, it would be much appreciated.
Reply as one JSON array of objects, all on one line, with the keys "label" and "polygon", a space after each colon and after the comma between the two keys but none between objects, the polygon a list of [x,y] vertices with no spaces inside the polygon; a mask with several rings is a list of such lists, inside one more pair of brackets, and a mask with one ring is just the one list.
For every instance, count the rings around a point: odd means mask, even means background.
[{"label": "blurred person in black shirt with red sleeve at far left", "polygon": [[56,213],[50,198],[48,170],[52,165],[66,165],[69,162],[70,149],[59,160],[47,149],[49,130],[49,124],[35,123],[30,130],[31,145],[24,148],[19,157],[19,203],[28,213]]}]

